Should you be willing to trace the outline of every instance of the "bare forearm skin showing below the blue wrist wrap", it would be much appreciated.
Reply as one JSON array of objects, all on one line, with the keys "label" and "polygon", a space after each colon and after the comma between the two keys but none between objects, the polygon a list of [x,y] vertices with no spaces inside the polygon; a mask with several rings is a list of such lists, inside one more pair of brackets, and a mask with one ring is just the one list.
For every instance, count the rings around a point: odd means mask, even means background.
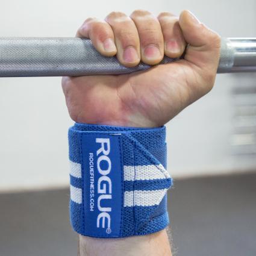
[{"label": "bare forearm skin showing below the blue wrist wrap", "polygon": [[122,239],[80,236],[78,250],[79,256],[172,256],[166,229]]}]

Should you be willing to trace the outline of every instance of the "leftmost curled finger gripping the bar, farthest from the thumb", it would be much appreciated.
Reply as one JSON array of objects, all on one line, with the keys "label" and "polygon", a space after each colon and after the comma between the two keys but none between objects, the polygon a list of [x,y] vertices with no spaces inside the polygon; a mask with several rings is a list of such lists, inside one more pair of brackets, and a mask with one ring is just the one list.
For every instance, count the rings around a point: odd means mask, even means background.
[{"label": "leftmost curled finger gripping the bar, farthest from the thumb", "polygon": [[87,19],[76,33],[77,37],[86,37],[92,40],[93,45],[104,56],[116,55],[114,33],[110,25],[95,18]]}]

